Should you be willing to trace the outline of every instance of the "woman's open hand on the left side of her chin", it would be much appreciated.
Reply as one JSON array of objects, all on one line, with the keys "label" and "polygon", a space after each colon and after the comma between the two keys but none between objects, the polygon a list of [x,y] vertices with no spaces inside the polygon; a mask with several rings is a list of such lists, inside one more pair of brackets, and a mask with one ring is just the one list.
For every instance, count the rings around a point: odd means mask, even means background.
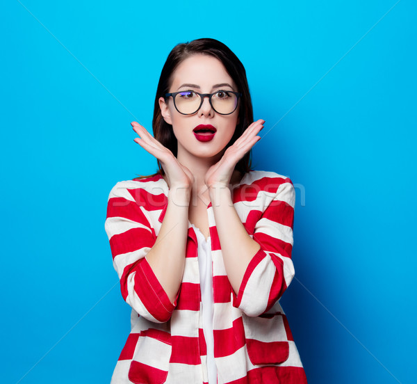
[{"label": "woman's open hand on the left side of her chin", "polygon": [[170,189],[183,189],[190,192],[193,188],[193,173],[179,163],[174,154],[149,134],[145,127],[136,121],[131,122],[131,126],[133,131],[140,136],[134,139],[136,143],[161,162]]}]

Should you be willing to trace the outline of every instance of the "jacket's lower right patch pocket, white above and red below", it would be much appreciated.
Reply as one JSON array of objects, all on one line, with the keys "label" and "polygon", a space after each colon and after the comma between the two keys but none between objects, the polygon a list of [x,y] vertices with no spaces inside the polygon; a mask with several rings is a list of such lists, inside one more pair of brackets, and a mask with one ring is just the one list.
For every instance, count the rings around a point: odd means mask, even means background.
[{"label": "jacket's lower right patch pocket, white above and red below", "polygon": [[282,314],[249,317],[242,314],[247,355],[253,365],[281,364],[290,354]]}]

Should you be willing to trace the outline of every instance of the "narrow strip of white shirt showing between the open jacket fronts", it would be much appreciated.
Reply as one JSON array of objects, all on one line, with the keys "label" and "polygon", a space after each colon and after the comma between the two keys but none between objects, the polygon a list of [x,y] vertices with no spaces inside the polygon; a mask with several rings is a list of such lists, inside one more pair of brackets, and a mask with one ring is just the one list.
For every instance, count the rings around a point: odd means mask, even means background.
[{"label": "narrow strip of white shirt showing between the open jacket fronts", "polygon": [[217,383],[217,367],[214,361],[213,338],[213,272],[211,267],[211,237],[207,240],[204,234],[191,224],[197,236],[197,259],[202,290],[203,332],[207,346],[208,384]]}]

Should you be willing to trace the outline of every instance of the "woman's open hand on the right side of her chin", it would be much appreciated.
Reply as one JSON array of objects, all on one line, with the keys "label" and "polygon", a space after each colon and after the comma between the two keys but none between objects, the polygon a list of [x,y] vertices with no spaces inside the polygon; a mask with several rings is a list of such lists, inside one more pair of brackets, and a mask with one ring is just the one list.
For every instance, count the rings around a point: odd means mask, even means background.
[{"label": "woman's open hand on the right side of her chin", "polygon": [[224,151],[222,158],[208,168],[204,182],[208,189],[229,187],[231,175],[238,161],[255,145],[261,136],[256,136],[263,128],[265,120],[259,119],[245,129],[243,135]]}]

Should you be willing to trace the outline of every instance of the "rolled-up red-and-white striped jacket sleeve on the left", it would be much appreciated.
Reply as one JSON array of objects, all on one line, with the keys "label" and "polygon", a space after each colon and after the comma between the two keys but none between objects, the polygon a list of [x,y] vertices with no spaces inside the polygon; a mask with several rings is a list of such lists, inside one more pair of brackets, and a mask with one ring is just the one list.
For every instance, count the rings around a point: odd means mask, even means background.
[{"label": "rolled-up red-and-white striped jacket sleeve on the left", "polygon": [[[118,182],[108,196],[105,230],[126,303],[149,321],[168,321],[177,305],[171,303],[145,256],[154,246],[156,235],[145,209],[131,189]],[[134,191],[134,189],[133,189]]]}]

